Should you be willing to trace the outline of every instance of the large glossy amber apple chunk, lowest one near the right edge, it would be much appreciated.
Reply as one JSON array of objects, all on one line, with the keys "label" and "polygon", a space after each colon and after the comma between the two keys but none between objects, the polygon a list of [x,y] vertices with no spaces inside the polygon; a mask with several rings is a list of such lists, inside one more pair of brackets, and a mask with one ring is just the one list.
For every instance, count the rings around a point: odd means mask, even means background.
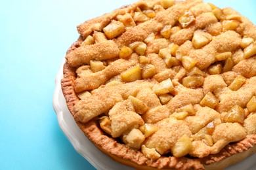
[{"label": "large glossy amber apple chunk, lowest one near the right edge", "polygon": [[224,122],[238,122],[240,124],[244,123],[244,109],[242,107],[240,107],[239,105],[235,105],[234,107],[232,107],[229,112],[226,113],[226,115],[224,116],[223,121]]}]

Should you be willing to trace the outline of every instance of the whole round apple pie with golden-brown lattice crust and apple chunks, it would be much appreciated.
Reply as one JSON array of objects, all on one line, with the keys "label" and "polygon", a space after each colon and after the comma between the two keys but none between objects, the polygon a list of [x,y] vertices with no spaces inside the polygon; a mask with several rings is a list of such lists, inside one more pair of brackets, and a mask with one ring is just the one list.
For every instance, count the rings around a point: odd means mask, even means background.
[{"label": "whole round apple pie with golden-brown lattice crust and apple chunks", "polygon": [[202,1],[139,1],[77,27],[62,92],[102,152],[137,169],[255,153],[256,28]]}]

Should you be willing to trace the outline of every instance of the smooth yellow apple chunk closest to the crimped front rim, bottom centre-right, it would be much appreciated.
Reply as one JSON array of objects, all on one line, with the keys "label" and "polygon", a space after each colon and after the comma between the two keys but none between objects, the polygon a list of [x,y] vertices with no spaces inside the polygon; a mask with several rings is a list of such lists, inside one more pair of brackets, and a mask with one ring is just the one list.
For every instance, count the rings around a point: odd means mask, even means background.
[{"label": "smooth yellow apple chunk closest to the crimped front rim, bottom centre-right", "polygon": [[180,158],[185,156],[192,150],[192,143],[188,135],[183,135],[171,148],[171,153],[173,156]]}]

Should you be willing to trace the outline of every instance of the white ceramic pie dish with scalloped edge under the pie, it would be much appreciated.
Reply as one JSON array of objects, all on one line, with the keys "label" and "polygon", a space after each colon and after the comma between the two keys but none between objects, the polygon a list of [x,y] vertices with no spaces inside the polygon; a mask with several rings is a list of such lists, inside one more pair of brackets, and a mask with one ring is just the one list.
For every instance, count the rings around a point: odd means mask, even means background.
[{"label": "white ceramic pie dish with scalloped edge under the pie", "polygon": [[[58,118],[60,129],[66,135],[70,143],[74,146],[75,150],[81,154],[91,165],[96,169],[122,169],[132,170],[132,167],[125,166],[117,161],[112,160],[109,156],[102,153],[96,146],[89,141],[89,139],[79,129],[75,120],[66,106],[64,95],[62,94],[60,80],[63,78],[63,59],[61,67],[55,78],[55,89],[53,94],[53,107]],[[256,154],[253,154],[244,161],[232,165],[226,170],[255,170],[256,169]],[[85,167],[86,168],[86,167]]]}]

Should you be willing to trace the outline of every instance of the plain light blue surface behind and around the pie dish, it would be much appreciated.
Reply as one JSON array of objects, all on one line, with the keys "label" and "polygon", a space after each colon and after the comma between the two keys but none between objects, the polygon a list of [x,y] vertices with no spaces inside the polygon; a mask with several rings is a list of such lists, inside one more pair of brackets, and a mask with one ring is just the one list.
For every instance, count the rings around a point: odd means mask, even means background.
[{"label": "plain light blue surface behind and around the pie dish", "polygon": [[[76,25],[132,2],[1,1],[0,169],[93,169],[58,126],[54,78]],[[239,2],[215,0],[256,23],[256,1]]]}]

